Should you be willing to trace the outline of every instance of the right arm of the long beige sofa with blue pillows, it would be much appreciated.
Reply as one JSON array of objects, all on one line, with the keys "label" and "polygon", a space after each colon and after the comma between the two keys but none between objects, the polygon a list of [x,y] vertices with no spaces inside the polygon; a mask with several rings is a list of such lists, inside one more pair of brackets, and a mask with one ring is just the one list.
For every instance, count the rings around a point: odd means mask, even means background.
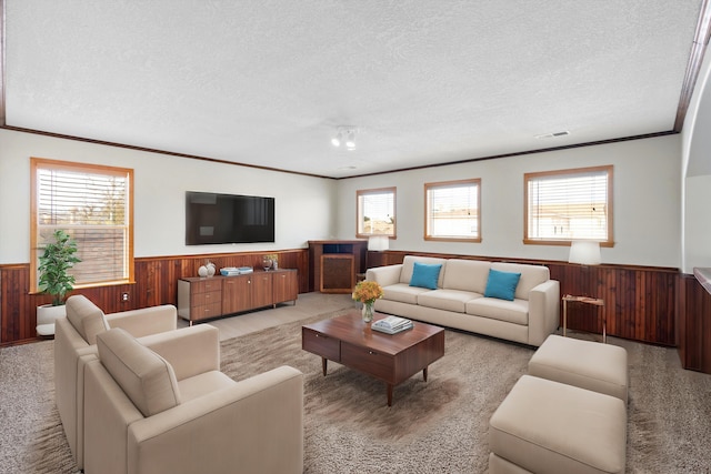
[{"label": "right arm of the long beige sofa with blue pillows", "polygon": [[560,282],[548,280],[529,294],[529,344],[541,345],[560,325]]}]

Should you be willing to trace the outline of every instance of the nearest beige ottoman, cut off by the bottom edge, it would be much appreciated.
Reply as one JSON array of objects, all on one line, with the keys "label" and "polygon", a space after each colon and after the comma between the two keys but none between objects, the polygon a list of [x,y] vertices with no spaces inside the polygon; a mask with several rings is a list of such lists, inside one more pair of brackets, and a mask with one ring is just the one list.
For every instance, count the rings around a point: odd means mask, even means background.
[{"label": "nearest beige ottoman, cut off by the bottom edge", "polygon": [[523,375],[489,422],[489,474],[624,473],[620,399]]}]

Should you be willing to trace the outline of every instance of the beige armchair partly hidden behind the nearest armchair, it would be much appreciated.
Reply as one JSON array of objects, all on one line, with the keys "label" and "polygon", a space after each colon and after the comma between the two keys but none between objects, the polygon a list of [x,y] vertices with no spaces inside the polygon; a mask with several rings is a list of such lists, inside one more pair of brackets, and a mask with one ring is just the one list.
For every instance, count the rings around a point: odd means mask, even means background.
[{"label": "beige armchair partly hidden behind the nearest armchair", "polygon": [[83,295],[67,300],[67,316],[57,320],[54,332],[54,399],[79,468],[83,467],[84,364],[96,359],[97,334],[122,327],[140,337],[174,331],[177,324],[178,313],[170,304],[104,315]]}]

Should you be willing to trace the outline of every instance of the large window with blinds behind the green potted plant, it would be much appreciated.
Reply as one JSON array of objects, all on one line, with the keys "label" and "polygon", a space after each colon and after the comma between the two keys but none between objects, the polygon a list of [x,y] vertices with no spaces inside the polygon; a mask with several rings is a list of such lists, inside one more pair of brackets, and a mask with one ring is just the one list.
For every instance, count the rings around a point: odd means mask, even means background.
[{"label": "large window with blinds behind the green potted plant", "polygon": [[77,242],[74,286],[133,282],[133,170],[30,159],[31,288],[57,229]]}]

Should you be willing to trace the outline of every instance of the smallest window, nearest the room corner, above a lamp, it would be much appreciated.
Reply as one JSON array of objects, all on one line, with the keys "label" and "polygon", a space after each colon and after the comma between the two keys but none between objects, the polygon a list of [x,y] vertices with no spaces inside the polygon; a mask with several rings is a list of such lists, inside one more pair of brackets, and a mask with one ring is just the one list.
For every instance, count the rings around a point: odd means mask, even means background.
[{"label": "smallest window, nearest the room corner, above a lamp", "polygon": [[395,188],[356,192],[356,236],[388,235],[395,238]]}]

